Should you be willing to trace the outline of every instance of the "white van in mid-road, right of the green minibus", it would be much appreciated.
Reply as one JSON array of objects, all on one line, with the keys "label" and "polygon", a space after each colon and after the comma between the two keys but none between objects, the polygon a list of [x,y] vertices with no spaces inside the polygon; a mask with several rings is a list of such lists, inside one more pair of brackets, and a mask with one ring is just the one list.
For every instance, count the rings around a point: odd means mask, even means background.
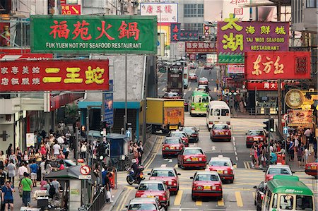
[{"label": "white van in mid-road, right of the green minibus", "polygon": [[206,126],[212,128],[215,123],[227,123],[230,125],[231,114],[230,107],[224,101],[211,101],[206,109]]}]

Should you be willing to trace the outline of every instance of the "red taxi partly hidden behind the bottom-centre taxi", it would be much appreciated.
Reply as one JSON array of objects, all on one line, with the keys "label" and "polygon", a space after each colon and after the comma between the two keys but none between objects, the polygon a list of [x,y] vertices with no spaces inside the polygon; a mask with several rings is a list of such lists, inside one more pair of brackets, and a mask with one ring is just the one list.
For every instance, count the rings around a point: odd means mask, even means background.
[{"label": "red taxi partly hidden behind the bottom-centre taxi", "polygon": [[223,157],[223,155],[218,155],[218,157],[211,157],[206,171],[216,171],[220,175],[220,179],[223,181],[227,180],[230,183],[234,181],[234,166],[236,164],[232,163],[230,157]]}]

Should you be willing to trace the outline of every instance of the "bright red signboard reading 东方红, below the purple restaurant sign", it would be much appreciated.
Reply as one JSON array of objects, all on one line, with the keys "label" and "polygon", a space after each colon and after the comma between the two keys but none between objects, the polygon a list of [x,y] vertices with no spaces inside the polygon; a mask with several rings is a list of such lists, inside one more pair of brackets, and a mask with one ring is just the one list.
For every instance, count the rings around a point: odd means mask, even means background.
[{"label": "bright red signboard reading \u4e1c\u65b9\u7ea2, below the purple restaurant sign", "polygon": [[247,80],[310,79],[310,52],[246,52]]}]

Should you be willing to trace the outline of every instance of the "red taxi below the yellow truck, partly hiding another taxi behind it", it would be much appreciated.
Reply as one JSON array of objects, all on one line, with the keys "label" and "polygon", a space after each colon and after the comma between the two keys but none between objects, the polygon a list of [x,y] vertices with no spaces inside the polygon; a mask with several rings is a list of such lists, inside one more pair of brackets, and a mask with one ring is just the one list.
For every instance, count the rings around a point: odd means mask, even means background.
[{"label": "red taxi below the yellow truck, partly hiding another taxi behind it", "polygon": [[178,155],[183,148],[184,143],[181,137],[167,137],[163,142],[163,157],[167,157],[170,155]]}]

